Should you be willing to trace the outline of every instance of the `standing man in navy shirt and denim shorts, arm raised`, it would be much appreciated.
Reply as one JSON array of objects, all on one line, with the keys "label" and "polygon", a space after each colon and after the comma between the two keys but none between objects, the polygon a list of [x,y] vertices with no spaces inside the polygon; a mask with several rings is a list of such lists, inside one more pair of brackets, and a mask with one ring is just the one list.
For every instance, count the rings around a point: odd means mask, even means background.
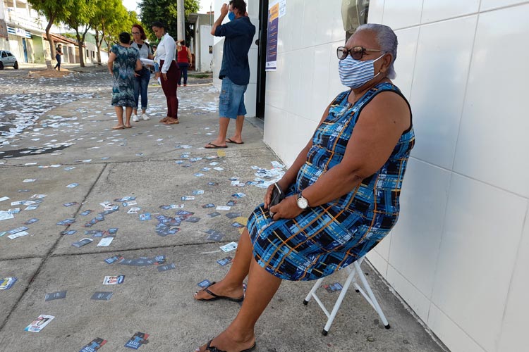
[{"label": "standing man in navy shirt and denim shorts, arm raised", "polygon": [[[229,16],[230,22],[221,25]],[[250,82],[248,51],[255,35],[255,25],[250,22],[243,0],[231,0],[223,4],[221,15],[213,24],[211,34],[224,37],[224,51],[219,78],[222,80],[219,96],[219,136],[205,145],[207,149],[226,148],[227,143],[243,144],[243,123],[246,108],[244,93]],[[235,134],[226,139],[230,119],[236,120]]]}]

